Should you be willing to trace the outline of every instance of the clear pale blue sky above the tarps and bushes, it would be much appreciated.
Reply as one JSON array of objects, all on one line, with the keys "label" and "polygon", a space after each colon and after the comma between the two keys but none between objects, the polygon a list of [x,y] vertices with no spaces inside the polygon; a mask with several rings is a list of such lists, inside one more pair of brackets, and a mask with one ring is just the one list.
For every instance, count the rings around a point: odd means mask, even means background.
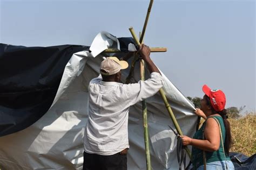
[{"label": "clear pale blue sky above the tarps and bushes", "polygon": [[[131,37],[149,1],[0,0],[0,42],[89,46],[100,31]],[[152,59],[185,96],[221,89],[226,107],[255,110],[255,1],[154,1],[145,44],[167,47]]]}]

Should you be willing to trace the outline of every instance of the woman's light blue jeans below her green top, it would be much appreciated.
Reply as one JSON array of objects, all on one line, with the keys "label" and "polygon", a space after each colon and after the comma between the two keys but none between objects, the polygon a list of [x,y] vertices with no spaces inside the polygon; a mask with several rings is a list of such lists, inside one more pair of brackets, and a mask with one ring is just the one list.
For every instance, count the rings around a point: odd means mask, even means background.
[{"label": "woman's light blue jeans below her green top", "polygon": [[[234,170],[234,165],[230,160],[224,161],[214,161],[206,164],[206,170],[222,170],[226,169],[227,162],[227,170]],[[201,165],[197,168],[197,170],[204,170],[204,165]]]}]

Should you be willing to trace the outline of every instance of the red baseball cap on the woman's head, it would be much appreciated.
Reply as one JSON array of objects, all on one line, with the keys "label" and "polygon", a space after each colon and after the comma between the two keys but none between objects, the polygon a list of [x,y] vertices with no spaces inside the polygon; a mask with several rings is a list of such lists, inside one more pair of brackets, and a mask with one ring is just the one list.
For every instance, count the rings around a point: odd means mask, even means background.
[{"label": "red baseball cap on the woman's head", "polygon": [[225,109],[226,96],[221,90],[211,90],[206,84],[203,86],[203,91],[210,98],[212,107],[215,111]]}]

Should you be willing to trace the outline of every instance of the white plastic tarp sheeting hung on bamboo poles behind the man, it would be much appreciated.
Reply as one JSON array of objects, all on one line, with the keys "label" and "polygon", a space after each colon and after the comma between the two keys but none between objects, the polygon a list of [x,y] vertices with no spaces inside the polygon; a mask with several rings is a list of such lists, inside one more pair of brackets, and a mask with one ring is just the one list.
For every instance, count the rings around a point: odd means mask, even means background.
[{"label": "white plastic tarp sheeting hung on bamboo poles behind the man", "polygon": [[[1,168],[82,169],[87,85],[99,74],[99,65],[103,60],[99,53],[106,48],[119,48],[118,40],[111,34],[102,32],[97,37],[90,48],[92,53],[83,51],[73,54],[50,110],[29,128],[0,137]],[[129,70],[122,72],[123,82]],[[139,80],[138,64],[134,73],[132,82]],[[147,77],[149,73],[146,72]],[[181,130],[192,136],[197,122],[193,104],[166,77],[164,90]],[[159,94],[147,99],[147,112],[152,168],[178,169],[177,140],[168,126],[174,128],[174,125]],[[143,131],[142,103],[137,103],[129,113],[128,169],[146,169]],[[187,157],[187,163],[188,160]]]}]

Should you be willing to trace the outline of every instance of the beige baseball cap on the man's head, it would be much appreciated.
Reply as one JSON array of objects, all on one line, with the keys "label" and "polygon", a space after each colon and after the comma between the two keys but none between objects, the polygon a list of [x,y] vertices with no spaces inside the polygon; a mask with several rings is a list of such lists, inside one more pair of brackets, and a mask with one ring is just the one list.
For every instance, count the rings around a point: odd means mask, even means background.
[{"label": "beige baseball cap on the man's head", "polygon": [[[126,69],[129,64],[126,61],[120,61],[116,56],[109,56],[100,63],[100,74],[113,75],[121,69]],[[104,70],[104,72],[102,71]]]}]

